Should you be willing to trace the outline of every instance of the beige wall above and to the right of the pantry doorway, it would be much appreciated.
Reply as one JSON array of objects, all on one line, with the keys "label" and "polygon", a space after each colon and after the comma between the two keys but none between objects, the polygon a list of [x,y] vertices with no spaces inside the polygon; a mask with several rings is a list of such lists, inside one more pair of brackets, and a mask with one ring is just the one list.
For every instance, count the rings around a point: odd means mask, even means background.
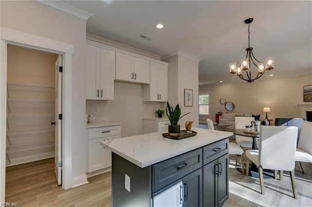
[{"label": "beige wall above and to the right of the pantry doorway", "polygon": [[83,176],[86,169],[86,20],[36,1],[0,1],[0,3],[1,27],[75,46],[72,74],[72,177]]}]

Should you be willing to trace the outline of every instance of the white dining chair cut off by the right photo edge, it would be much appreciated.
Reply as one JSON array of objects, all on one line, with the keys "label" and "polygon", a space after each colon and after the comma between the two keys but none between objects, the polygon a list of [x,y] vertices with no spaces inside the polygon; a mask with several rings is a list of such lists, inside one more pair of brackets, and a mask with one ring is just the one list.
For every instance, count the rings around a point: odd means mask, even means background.
[{"label": "white dining chair cut off by the right photo edge", "polygon": [[312,122],[303,121],[295,160],[299,161],[302,173],[306,173],[305,164],[312,162]]}]

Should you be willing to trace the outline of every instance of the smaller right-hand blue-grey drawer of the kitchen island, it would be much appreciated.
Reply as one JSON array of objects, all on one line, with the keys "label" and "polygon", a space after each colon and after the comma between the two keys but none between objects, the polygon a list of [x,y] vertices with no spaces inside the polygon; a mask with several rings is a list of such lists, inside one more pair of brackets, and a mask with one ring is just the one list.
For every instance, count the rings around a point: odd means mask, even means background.
[{"label": "smaller right-hand blue-grey drawer of the kitchen island", "polygon": [[206,147],[203,147],[203,165],[229,152],[229,139],[225,138]]}]

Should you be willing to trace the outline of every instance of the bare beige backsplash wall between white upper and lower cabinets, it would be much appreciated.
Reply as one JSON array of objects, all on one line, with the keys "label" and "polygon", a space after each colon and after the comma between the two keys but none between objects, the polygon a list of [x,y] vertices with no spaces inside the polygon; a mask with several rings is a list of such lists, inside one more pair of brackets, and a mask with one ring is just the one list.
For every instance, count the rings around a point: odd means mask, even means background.
[{"label": "bare beige backsplash wall between white upper and lower cabinets", "polygon": [[[100,111],[96,107],[100,106]],[[131,111],[129,111],[131,106]],[[96,117],[107,117],[109,121],[121,122],[121,137],[143,134],[143,114],[165,110],[165,103],[143,102],[143,86],[129,83],[114,83],[113,101],[86,101],[86,113]]]}]

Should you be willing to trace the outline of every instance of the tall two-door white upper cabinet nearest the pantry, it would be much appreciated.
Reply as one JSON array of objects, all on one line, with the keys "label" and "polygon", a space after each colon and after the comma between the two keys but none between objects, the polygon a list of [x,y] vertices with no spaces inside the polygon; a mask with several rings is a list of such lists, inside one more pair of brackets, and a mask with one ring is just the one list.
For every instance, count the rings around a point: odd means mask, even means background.
[{"label": "tall two-door white upper cabinet nearest the pantry", "polygon": [[87,44],[87,100],[114,100],[115,53]]}]

